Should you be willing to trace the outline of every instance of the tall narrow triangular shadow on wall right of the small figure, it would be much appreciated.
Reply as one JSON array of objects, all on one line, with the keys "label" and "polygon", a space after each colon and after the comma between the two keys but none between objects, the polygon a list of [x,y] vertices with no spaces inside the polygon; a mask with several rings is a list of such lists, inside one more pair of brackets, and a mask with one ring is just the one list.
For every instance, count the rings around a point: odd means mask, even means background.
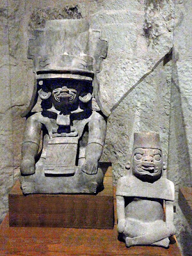
[{"label": "tall narrow triangular shadow on wall right of the small figure", "polygon": [[189,186],[191,182],[188,140],[186,137],[177,67],[174,63],[171,88],[168,179],[174,182],[176,192],[178,192],[179,186]]}]

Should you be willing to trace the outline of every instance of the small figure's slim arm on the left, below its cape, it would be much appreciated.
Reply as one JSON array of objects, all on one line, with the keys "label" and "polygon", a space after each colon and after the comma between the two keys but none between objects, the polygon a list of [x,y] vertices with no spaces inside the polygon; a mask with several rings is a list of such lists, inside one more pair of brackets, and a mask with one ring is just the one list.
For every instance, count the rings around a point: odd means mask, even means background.
[{"label": "small figure's slim arm on the left, below its cape", "polygon": [[124,196],[116,196],[116,211],[118,220],[118,232],[123,233],[126,226]]}]

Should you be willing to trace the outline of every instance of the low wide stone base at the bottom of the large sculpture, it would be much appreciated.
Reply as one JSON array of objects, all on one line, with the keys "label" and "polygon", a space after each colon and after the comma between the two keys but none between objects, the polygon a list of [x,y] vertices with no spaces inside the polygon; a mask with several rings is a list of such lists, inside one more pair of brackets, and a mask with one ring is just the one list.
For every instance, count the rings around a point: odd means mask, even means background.
[{"label": "low wide stone base at the bottom of the large sculpture", "polygon": [[44,194],[75,194],[91,193],[95,194],[103,189],[104,173],[100,168],[95,175],[89,175],[76,168],[72,175],[63,176],[60,174],[45,174],[43,166],[38,166],[33,175],[21,176],[21,188],[24,194],[44,193]]}]

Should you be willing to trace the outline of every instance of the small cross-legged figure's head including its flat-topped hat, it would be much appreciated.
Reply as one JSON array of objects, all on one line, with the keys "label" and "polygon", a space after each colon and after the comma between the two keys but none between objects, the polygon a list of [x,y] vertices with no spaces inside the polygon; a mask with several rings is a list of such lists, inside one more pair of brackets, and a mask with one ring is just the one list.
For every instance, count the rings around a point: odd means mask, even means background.
[{"label": "small cross-legged figure's head including its flat-topped hat", "polygon": [[132,174],[138,179],[154,182],[163,172],[163,154],[159,134],[140,132],[134,134]]}]

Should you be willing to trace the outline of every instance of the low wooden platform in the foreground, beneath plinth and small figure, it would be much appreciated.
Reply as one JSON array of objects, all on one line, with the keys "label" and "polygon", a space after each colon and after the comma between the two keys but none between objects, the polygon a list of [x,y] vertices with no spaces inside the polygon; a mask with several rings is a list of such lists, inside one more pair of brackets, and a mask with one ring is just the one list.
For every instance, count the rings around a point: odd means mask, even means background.
[{"label": "low wooden platform in the foreground, beneath plinth and small figure", "polygon": [[78,228],[9,227],[8,215],[0,227],[1,256],[179,256],[177,243],[170,248],[126,248],[113,230]]}]

